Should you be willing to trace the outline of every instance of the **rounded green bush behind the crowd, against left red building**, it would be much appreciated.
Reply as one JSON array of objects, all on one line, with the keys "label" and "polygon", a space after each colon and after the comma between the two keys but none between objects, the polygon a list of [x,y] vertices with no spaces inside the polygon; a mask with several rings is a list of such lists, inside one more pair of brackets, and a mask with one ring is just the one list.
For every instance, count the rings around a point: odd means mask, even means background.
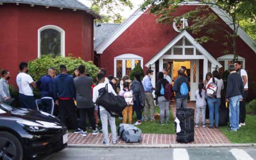
[{"label": "rounded green bush behind the crowd, against left red building", "polygon": [[43,75],[47,74],[48,68],[55,68],[57,74],[59,74],[59,66],[65,64],[69,75],[73,75],[74,69],[80,64],[85,65],[86,73],[89,73],[93,78],[93,81],[96,81],[96,76],[98,73],[98,67],[96,67],[92,61],[85,62],[81,58],[75,57],[55,57],[51,55],[43,55],[38,59],[34,59],[28,62],[29,74],[33,77],[35,81],[39,80]]}]

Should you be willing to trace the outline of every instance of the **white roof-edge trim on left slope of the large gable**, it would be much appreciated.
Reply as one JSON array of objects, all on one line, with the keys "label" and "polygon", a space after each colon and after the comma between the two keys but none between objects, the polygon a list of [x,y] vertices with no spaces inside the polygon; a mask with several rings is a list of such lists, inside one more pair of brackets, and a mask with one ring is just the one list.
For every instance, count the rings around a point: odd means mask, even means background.
[{"label": "white roof-edge trim on left slope of the large gable", "polygon": [[[145,10],[147,11],[147,10]],[[140,8],[133,12],[131,16],[128,17],[117,29],[112,32],[98,47],[95,48],[95,51],[98,54],[102,54],[104,50],[110,46],[128,27],[130,27],[134,21],[136,21],[145,11],[141,11]]]}]

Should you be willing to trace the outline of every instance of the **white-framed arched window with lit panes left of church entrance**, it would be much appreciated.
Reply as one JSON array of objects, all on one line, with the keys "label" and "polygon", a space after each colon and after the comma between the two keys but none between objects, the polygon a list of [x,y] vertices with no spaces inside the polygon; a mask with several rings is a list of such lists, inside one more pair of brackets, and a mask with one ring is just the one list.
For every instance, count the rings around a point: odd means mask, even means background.
[{"label": "white-framed arched window with lit panes left of church entrance", "polygon": [[114,76],[123,78],[124,75],[130,75],[135,65],[140,64],[143,68],[143,58],[135,54],[122,54],[114,58]]}]

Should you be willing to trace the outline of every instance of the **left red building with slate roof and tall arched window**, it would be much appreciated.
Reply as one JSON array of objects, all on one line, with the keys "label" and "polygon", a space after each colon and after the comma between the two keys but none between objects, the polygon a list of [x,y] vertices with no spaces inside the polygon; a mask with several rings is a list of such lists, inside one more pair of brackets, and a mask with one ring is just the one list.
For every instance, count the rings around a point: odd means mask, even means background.
[{"label": "left red building with slate roof and tall arched window", "polygon": [[96,12],[77,0],[0,0],[0,69],[16,84],[18,65],[43,54],[94,59]]}]

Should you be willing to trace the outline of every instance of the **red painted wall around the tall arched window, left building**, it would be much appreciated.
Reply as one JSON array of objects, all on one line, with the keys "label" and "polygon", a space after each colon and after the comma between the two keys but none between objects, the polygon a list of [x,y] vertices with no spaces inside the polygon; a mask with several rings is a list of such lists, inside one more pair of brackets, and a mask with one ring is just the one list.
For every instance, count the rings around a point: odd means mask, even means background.
[{"label": "red painted wall around the tall arched window, left building", "polygon": [[0,5],[0,69],[11,72],[16,85],[18,65],[37,58],[37,31],[55,25],[65,31],[65,55],[93,60],[93,17],[85,11],[27,4]]}]

